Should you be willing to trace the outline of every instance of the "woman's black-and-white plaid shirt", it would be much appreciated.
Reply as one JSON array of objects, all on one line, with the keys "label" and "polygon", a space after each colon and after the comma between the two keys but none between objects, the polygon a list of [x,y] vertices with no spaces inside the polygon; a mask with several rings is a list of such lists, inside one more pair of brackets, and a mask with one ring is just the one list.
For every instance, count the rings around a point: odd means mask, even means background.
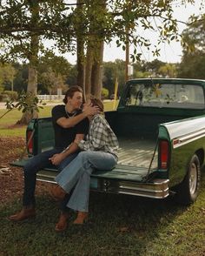
[{"label": "woman's black-and-white plaid shirt", "polygon": [[86,140],[81,140],[78,146],[84,151],[109,152],[117,157],[119,144],[106,119],[98,114],[90,121]]}]

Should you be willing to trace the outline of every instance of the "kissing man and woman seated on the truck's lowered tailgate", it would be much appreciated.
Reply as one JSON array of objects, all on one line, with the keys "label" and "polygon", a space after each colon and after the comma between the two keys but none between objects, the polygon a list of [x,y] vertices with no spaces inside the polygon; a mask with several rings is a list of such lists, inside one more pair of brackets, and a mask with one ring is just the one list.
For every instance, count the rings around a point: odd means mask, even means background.
[{"label": "kissing man and woman seated on the truck's lowered tailgate", "polygon": [[36,173],[48,165],[56,165],[60,173],[56,176],[57,185],[50,190],[61,202],[56,232],[67,228],[69,209],[77,212],[74,224],[83,224],[88,219],[90,174],[95,169],[114,168],[118,148],[116,135],[104,118],[100,99],[90,97],[83,104],[82,88],[72,86],[63,103],[52,109],[55,147],[30,158],[24,166],[23,209],[9,217],[21,221],[36,216]]}]

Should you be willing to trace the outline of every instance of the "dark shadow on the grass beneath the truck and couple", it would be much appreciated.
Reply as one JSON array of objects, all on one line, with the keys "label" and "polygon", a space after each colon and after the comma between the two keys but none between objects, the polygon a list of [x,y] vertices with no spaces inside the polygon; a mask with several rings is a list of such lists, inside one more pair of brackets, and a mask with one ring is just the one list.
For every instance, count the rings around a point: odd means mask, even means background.
[{"label": "dark shadow on the grass beneath the truck and couple", "polygon": [[36,219],[21,223],[6,219],[19,207],[19,199],[1,206],[0,254],[151,255],[146,253],[146,244],[187,209],[174,205],[171,199],[140,199],[96,192],[90,193],[89,201],[88,224],[72,225],[76,214],[71,212],[69,227],[63,233],[54,231],[59,210],[49,196],[37,198]]}]

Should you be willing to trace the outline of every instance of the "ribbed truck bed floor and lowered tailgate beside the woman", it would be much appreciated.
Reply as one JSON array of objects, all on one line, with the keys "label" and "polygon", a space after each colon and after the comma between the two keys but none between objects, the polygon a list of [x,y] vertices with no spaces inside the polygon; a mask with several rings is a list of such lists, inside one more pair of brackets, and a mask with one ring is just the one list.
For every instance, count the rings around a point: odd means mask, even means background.
[{"label": "ribbed truck bed floor and lowered tailgate beside the woman", "polygon": [[[152,175],[157,169],[157,151],[155,141],[143,138],[118,138],[119,151],[116,167],[109,172],[98,171],[92,173],[92,177],[98,179],[116,179],[134,182],[142,182],[148,175]],[[152,165],[151,159],[153,159]]]}]

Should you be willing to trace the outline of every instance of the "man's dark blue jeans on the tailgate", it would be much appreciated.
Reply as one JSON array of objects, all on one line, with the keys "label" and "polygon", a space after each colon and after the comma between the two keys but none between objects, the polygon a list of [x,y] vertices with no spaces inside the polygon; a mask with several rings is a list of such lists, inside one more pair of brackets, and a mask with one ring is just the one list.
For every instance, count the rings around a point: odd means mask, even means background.
[{"label": "man's dark blue jeans on the tailgate", "polygon": [[[23,168],[24,172],[24,192],[23,192],[23,206],[35,206],[35,188],[36,188],[36,173],[42,170],[45,167],[54,167],[51,164],[49,158],[54,154],[63,152],[63,148],[54,148],[47,152],[42,152],[36,156],[30,158],[26,165]],[[57,166],[59,171],[62,171],[63,168],[69,165],[74,158],[76,158],[77,153],[70,155],[68,158],[65,158],[62,163]],[[56,166],[55,166],[56,167]]]}]

